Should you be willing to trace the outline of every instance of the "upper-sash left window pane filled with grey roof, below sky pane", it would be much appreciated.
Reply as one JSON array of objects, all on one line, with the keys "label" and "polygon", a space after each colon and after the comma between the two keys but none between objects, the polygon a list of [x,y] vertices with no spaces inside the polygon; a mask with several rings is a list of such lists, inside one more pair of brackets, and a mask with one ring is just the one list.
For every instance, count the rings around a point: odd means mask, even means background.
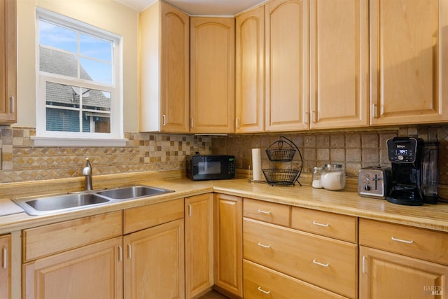
[{"label": "upper-sash left window pane filled with grey roof, below sky pane", "polygon": [[52,74],[78,78],[78,57],[49,48],[39,48],[39,69]]}]

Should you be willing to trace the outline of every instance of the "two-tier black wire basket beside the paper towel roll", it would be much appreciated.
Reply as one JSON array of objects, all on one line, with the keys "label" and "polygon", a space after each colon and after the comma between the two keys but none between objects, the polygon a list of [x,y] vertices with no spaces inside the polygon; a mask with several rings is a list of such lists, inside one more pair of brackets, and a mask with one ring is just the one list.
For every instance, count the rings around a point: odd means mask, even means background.
[{"label": "two-tier black wire basket beside the paper towel roll", "polygon": [[[284,145],[287,147],[283,148]],[[275,148],[276,146],[276,148]],[[299,176],[302,173],[302,154],[299,148],[290,141],[290,139],[281,136],[280,140],[275,141],[266,149],[267,158],[272,162],[291,162],[294,158],[295,153],[298,152],[300,156],[300,168],[299,169],[284,169],[284,168],[270,168],[262,169],[265,175],[267,183],[274,186],[288,186],[294,185],[297,181],[300,186],[302,184],[299,181]]]}]

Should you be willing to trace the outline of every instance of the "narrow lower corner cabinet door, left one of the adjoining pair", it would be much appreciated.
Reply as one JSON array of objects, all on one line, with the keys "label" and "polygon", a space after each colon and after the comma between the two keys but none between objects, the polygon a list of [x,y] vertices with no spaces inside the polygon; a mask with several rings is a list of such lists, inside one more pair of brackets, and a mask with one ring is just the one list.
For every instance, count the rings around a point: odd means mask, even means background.
[{"label": "narrow lower corner cabinet door, left one of the adjoining pair", "polygon": [[213,194],[185,200],[186,298],[213,286]]}]

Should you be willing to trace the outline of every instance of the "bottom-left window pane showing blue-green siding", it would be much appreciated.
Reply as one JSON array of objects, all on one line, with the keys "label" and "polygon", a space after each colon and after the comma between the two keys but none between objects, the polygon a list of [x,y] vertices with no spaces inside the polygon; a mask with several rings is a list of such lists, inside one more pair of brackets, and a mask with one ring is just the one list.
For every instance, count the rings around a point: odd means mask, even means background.
[{"label": "bottom-left window pane showing blue-green siding", "polygon": [[79,132],[79,112],[47,107],[47,131]]}]

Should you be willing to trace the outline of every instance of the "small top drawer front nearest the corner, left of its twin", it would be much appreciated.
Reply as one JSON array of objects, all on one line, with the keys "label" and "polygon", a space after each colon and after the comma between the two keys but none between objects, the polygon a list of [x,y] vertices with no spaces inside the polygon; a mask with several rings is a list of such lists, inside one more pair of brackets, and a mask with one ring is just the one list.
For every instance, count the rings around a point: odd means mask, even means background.
[{"label": "small top drawer front nearest the corner, left of its twin", "polygon": [[244,217],[290,226],[290,206],[286,204],[244,198],[243,213]]}]

